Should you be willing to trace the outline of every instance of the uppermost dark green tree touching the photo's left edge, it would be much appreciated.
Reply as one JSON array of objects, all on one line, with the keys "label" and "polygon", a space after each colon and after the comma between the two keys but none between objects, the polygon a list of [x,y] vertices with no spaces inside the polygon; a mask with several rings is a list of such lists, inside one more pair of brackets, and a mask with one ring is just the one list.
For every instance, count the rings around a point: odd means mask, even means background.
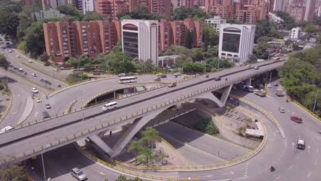
[{"label": "uppermost dark green tree touching the photo's left edge", "polygon": [[0,34],[16,38],[19,16],[15,12],[0,10]]}]

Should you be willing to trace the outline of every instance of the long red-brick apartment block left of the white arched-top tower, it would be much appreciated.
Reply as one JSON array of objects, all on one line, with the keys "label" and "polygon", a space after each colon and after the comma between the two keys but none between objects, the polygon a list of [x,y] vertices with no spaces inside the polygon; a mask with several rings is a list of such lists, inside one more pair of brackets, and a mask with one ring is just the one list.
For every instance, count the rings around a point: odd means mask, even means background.
[{"label": "long red-brick apartment block left of the white arched-top tower", "polygon": [[49,22],[43,24],[43,32],[47,54],[62,63],[80,55],[95,57],[109,53],[118,40],[115,22],[110,20]]}]

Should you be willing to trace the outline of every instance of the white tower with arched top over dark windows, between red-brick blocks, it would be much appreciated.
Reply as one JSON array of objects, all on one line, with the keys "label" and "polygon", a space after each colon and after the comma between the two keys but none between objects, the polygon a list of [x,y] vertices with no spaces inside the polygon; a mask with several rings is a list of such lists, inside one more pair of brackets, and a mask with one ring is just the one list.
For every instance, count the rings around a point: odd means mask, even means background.
[{"label": "white tower with arched top over dark windows, between red-brick blocks", "polygon": [[123,51],[143,62],[148,60],[157,64],[158,58],[158,21],[123,20],[121,21]]}]

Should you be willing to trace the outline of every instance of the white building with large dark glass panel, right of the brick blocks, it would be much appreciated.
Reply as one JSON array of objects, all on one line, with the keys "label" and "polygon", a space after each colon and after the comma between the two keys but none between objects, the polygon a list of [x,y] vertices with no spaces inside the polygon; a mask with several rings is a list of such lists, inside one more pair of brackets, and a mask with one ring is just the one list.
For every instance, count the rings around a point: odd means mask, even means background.
[{"label": "white building with large dark glass panel, right of the brick blocks", "polygon": [[255,25],[222,24],[219,29],[219,58],[246,62],[252,55]]}]

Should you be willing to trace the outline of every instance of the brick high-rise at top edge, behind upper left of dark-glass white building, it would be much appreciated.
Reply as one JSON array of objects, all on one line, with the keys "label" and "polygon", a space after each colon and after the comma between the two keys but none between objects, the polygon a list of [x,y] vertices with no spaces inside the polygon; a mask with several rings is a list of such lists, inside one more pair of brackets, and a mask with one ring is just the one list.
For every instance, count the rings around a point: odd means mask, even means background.
[{"label": "brick high-rise at top edge, behind upper left of dark-glass white building", "polygon": [[232,0],[204,0],[204,12],[215,13],[223,19],[233,18],[234,6]]}]

